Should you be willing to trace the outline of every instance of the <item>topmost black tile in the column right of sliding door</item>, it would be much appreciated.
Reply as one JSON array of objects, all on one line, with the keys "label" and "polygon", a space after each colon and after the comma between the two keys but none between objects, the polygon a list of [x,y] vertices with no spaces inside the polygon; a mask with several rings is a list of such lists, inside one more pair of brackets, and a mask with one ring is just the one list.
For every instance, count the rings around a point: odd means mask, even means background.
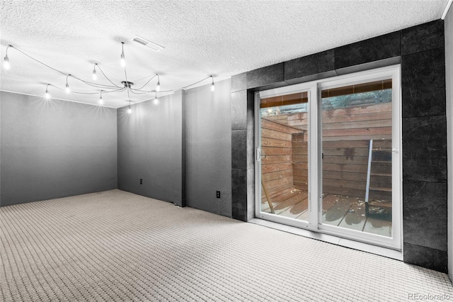
[{"label": "topmost black tile in the column right of sliding door", "polygon": [[415,52],[444,47],[444,21],[437,20],[401,30],[401,52]]}]

